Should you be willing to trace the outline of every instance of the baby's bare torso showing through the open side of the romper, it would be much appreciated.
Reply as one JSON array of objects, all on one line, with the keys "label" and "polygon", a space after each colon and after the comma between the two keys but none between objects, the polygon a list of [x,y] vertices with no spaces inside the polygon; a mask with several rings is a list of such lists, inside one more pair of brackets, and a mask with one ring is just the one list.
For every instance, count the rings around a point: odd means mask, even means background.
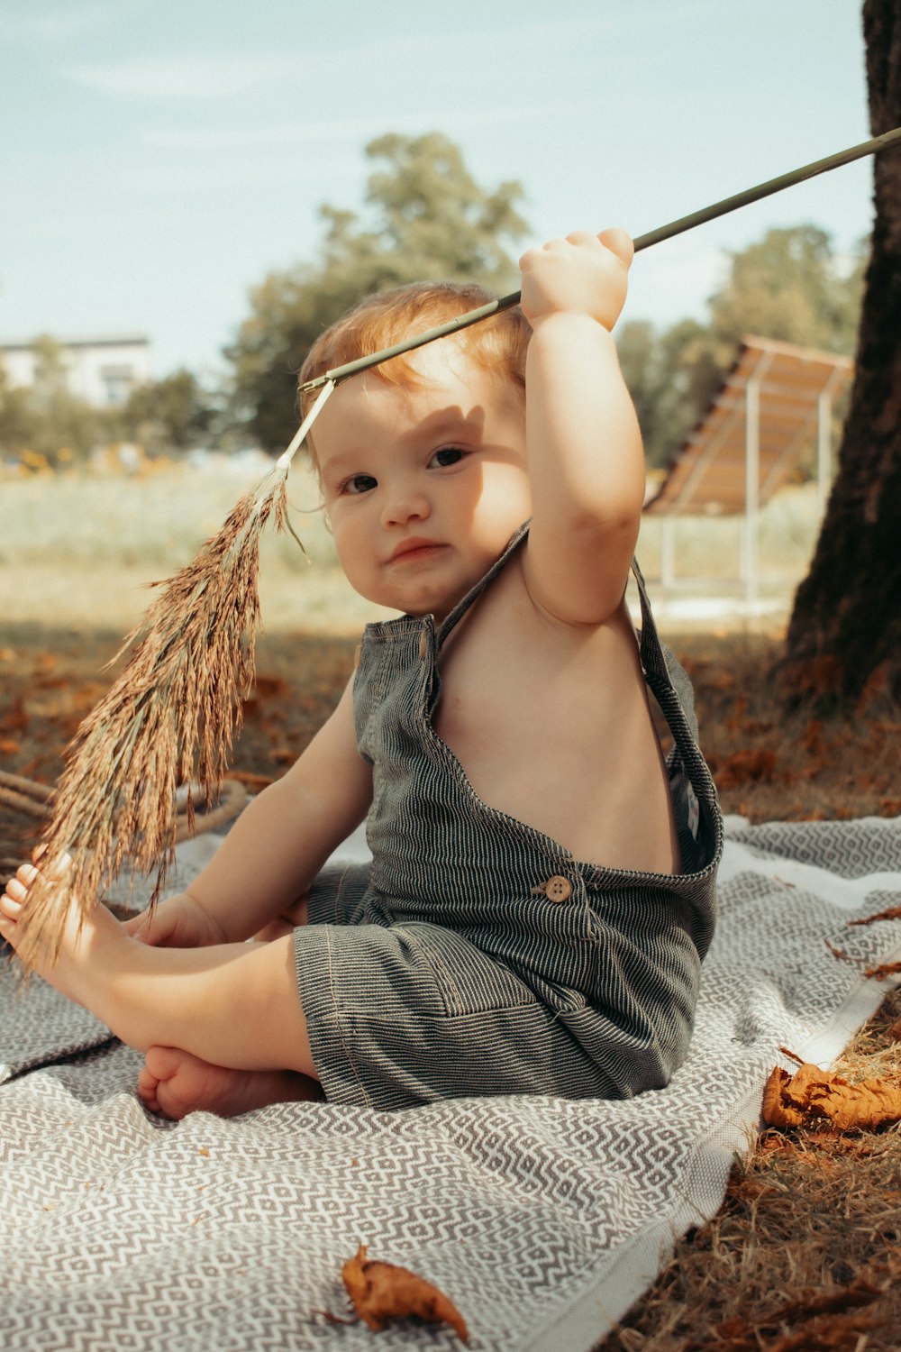
[{"label": "baby's bare torso showing through the open side of the romper", "polygon": [[623,603],[573,626],[532,602],[521,554],[448,637],[435,731],[488,806],[609,868],[678,872],[666,772]]}]

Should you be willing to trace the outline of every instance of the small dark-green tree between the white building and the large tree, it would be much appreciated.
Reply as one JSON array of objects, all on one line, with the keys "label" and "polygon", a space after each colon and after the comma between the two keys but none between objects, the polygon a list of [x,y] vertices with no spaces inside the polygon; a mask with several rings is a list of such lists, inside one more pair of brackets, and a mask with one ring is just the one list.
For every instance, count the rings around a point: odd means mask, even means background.
[{"label": "small dark-green tree between the white building and the large tree", "polygon": [[204,445],[215,418],[213,397],[190,370],[181,369],[132,389],[111,423],[119,439],[166,454]]}]

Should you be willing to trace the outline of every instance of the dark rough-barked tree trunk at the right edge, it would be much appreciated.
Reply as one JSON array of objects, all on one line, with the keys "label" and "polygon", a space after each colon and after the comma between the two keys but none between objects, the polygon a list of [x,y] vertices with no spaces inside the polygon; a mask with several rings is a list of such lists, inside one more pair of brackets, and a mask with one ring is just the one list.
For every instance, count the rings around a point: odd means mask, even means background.
[{"label": "dark rough-barked tree trunk at the right edge", "polygon": [[[865,0],[873,135],[901,124],[901,5]],[[851,408],[782,668],[792,698],[901,695],[901,149],[874,160],[875,222]]]}]

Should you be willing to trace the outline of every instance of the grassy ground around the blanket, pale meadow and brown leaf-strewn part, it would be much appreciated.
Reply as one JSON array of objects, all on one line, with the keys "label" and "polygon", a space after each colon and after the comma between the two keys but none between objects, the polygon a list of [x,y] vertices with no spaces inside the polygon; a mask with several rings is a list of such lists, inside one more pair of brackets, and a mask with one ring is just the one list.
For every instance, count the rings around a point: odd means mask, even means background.
[{"label": "grassy ground around the blanket, pale meadow and brown leaf-strewn part", "polygon": [[[0,768],[51,783],[81,718],[111,680],[101,665],[139,618],[145,587],[186,562],[240,492],[228,466],[149,479],[0,479]],[[284,773],[334,707],[355,635],[376,617],[354,598],[309,476],[292,476],[294,525],[262,558],[265,633],[244,704],[236,768],[253,784]],[[816,535],[810,489],[777,499],[761,523],[761,592],[742,612],[738,526],[679,529],[678,592],[652,585],[665,638],[689,668],[701,740],[727,813],[754,821],[901,813],[901,711],[871,691],[843,721],[788,714],[771,672],[790,596]],[[659,523],[642,530],[652,580]],[[689,585],[692,575],[716,584]],[[0,811],[0,837],[4,822]],[[901,1075],[901,998],[848,1049],[851,1078]],[[898,1352],[901,1133],[767,1132],[736,1163],[711,1224],[598,1347],[604,1352]]]}]

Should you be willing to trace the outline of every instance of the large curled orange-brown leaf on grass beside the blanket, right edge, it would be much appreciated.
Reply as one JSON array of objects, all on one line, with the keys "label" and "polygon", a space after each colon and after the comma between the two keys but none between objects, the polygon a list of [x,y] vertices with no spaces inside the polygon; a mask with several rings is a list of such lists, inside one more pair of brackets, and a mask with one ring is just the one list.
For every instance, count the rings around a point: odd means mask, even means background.
[{"label": "large curled orange-brown leaf on grass beside the blanket, right edge", "polygon": [[850,1084],[805,1063],[794,1075],[775,1067],[763,1090],[769,1126],[832,1122],[840,1132],[875,1132],[901,1121],[901,1086],[887,1079]]}]

